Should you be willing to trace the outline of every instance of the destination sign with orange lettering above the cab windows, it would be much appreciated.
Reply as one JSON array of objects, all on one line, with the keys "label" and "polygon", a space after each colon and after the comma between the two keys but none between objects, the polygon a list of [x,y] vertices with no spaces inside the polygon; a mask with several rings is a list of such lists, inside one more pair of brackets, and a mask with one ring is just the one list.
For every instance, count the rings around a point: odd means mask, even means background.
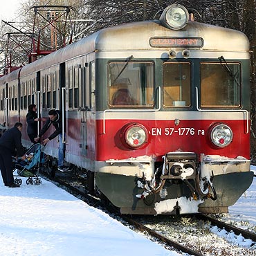
[{"label": "destination sign with orange lettering above the cab windows", "polygon": [[152,37],[149,39],[152,47],[202,47],[201,37]]}]

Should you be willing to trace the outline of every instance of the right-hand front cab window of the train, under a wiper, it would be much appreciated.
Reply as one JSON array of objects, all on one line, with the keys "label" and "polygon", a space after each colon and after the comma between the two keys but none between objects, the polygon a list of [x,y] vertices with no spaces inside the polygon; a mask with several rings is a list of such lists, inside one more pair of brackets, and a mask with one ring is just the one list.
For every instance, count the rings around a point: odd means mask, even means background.
[{"label": "right-hand front cab window of the train, under a wiper", "polygon": [[240,106],[240,64],[201,63],[201,107]]}]

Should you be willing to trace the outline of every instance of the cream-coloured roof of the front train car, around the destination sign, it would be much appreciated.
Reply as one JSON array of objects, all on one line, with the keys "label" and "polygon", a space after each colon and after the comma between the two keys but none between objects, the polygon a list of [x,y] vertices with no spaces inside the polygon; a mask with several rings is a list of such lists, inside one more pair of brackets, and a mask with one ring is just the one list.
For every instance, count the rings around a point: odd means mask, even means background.
[{"label": "cream-coloured roof of the front train car, around the destination sign", "polygon": [[[249,41],[244,33],[229,28],[189,21],[185,28],[172,30],[161,21],[140,21],[104,28],[80,41],[21,68],[21,76],[60,64],[73,57],[93,51],[147,51],[152,50],[152,37],[201,37],[203,51],[248,52]],[[154,47],[155,51],[170,51],[171,47]],[[173,47],[172,47],[173,48]],[[197,49],[199,49],[197,47]]]}]

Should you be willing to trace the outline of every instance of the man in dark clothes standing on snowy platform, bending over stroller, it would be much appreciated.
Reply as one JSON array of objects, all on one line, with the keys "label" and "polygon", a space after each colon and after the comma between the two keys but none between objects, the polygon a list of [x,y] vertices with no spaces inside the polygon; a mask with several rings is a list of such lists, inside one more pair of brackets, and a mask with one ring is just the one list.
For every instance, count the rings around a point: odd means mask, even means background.
[{"label": "man in dark clothes standing on snowy platform, bending over stroller", "polygon": [[12,170],[12,156],[17,151],[17,156],[22,156],[21,160],[25,160],[24,148],[21,144],[21,122],[16,122],[15,126],[8,129],[0,138],[0,168],[4,185],[10,188],[17,188],[19,185],[14,183]]}]

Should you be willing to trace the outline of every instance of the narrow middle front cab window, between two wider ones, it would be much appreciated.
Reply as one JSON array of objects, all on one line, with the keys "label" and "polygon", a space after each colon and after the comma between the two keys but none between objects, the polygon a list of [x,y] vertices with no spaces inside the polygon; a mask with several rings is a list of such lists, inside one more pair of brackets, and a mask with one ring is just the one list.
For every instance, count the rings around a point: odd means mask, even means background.
[{"label": "narrow middle front cab window, between two wider ones", "polygon": [[190,107],[190,74],[189,62],[163,64],[163,104],[165,107]]}]

